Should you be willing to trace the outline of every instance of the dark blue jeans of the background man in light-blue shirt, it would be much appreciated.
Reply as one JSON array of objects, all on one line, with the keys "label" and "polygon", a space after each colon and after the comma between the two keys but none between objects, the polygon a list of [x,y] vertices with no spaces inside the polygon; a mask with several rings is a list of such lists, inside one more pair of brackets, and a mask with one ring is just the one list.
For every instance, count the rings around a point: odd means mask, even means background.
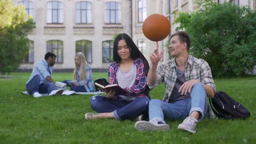
[{"label": "dark blue jeans of the background man in light-blue shirt", "polygon": [[35,75],[27,84],[26,91],[32,95],[34,92],[41,94],[51,93],[55,90],[55,84],[46,80],[46,83],[40,83],[40,75]]}]

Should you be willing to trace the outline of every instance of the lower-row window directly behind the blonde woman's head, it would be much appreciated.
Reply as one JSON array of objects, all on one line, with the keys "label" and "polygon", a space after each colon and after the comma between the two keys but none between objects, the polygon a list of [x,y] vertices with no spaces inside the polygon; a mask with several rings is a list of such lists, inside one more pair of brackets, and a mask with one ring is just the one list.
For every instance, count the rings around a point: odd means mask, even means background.
[{"label": "lower-row window directly behind the blonde woman's head", "polygon": [[79,40],[75,42],[75,52],[82,52],[87,62],[92,62],[92,42],[89,40]]}]

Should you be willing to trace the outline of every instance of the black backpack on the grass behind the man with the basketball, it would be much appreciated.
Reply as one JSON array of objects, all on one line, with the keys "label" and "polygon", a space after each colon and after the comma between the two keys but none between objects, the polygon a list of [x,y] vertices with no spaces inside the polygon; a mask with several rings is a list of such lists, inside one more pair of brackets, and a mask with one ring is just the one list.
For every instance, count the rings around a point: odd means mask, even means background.
[{"label": "black backpack on the grass behind the man with the basketball", "polygon": [[250,112],[240,103],[233,100],[225,92],[217,91],[213,98],[209,98],[213,112],[219,118],[236,119],[249,118]]}]

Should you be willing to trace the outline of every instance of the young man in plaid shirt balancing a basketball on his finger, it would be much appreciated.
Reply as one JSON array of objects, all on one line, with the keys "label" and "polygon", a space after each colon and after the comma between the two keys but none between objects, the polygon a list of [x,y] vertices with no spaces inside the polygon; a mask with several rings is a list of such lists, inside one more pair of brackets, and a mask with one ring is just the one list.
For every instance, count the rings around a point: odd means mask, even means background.
[{"label": "young man in plaid shirt balancing a basketball on his finger", "polygon": [[203,59],[188,55],[190,39],[187,33],[174,33],[170,42],[174,59],[157,68],[164,53],[164,50],[158,52],[158,43],[157,49],[150,55],[147,84],[152,89],[164,82],[165,95],[163,101],[153,99],[149,102],[150,121],[137,121],[137,131],[168,131],[165,117],[172,121],[185,118],[178,129],[195,133],[197,122],[205,117],[207,110],[210,117],[214,118],[207,101],[207,97],[214,97],[216,90],[210,66]]}]

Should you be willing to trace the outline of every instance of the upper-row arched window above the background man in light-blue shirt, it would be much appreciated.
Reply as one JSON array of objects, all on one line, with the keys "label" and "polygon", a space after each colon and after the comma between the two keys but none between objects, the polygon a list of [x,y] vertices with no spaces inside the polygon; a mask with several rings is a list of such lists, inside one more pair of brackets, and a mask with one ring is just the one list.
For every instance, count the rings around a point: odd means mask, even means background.
[{"label": "upper-row arched window above the background man in light-blue shirt", "polygon": [[63,4],[59,1],[47,2],[47,23],[63,23]]}]

